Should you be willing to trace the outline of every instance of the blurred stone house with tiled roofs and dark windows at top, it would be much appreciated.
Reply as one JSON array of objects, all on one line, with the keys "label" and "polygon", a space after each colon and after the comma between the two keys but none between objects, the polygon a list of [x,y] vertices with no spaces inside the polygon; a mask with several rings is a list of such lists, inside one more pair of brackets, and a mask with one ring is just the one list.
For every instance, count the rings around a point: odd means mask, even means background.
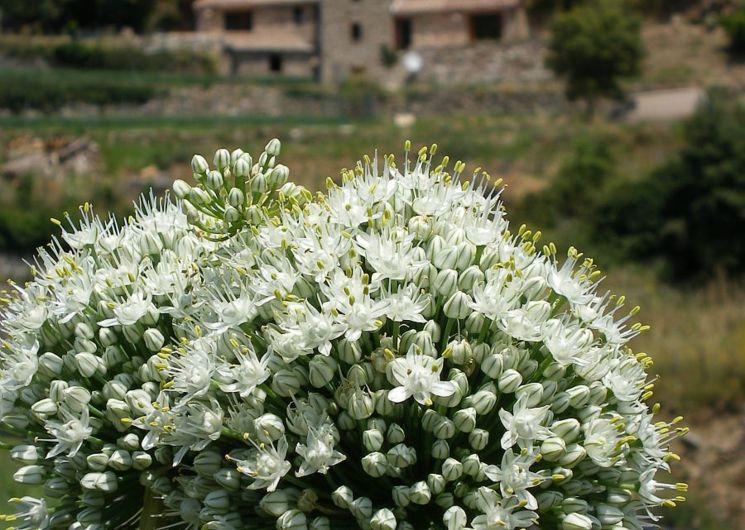
[{"label": "blurred stone house with tiled roofs and dark windows at top", "polygon": [[313,76],[338,83],[358,75],[400,76],[394,63],[409,50],[433,67],[440,52],[483,48],[483,43],[488,43],[487,53],[500,53],[528,37],[523,3],[196,0],[194,9],[197,31],[221,40],[232,73]]}]

